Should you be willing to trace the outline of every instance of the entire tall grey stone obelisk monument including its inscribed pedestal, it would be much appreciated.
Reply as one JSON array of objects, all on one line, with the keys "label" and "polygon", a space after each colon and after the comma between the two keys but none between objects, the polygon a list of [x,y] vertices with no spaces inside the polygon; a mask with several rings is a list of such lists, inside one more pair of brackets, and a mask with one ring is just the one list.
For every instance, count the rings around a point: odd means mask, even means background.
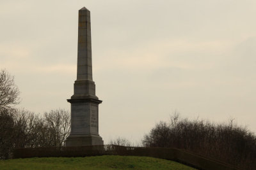
[{"label": "entire tall grey stone obelisk monument including its inscribed pedestal", "polygon": [[79,10],[77,80],[71,104],[71,132],[66,146],[103,145],[99,136],[99,104],[92,79],[92,41],[90,11]]}]

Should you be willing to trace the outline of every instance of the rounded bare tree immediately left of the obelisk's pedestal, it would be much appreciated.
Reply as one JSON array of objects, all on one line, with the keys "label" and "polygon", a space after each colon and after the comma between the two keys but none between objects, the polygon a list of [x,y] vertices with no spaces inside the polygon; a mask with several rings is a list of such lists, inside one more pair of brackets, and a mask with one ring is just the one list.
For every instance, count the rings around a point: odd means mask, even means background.
[{"label": "rounded bare tree immediately left of the obelisk's pedestal", "polygon": [[64,146],[65,139],[70,134],[70,113],[69,111],[58,109],[51,110],[44,114],[49,146]]}]

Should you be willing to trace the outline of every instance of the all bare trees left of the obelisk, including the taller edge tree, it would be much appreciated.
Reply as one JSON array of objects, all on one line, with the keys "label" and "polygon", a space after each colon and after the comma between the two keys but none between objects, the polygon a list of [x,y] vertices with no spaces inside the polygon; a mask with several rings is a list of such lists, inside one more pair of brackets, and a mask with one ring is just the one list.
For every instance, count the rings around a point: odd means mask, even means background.
[{"label": "all bare trees left of the obelisk, including the taller edge tree", "polygon": [[0,71],[0,159],[12,157],[13,148],[63,146],[70,133],[70,113],[51,110],[38,115],[17,110],[19,89],[13,76]]}]

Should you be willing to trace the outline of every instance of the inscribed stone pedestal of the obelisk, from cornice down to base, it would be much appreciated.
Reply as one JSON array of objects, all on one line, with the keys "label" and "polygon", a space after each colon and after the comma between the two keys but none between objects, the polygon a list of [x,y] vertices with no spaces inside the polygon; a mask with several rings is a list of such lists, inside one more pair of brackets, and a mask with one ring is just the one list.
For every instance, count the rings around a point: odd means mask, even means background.
[{"label": "inscribed stone pedestal of the obelisk, from cornice down to base", "polygon": [[99,104],[102,101],[83,96],[77,98],[72,96],[67,100],[71,103],[71,132],[66,146],[103,145],[99,136]]}]

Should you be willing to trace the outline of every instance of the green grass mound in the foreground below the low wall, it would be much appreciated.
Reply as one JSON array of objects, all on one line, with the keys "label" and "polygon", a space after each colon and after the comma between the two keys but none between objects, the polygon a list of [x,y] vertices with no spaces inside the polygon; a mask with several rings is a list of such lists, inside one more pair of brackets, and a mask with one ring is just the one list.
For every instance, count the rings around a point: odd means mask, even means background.
[{"label": "green grass mound in the foreground below the low wall", "polygon": [[193,169],[171,160],[151,157],[97,156],[0,160],[0,169]]}]

